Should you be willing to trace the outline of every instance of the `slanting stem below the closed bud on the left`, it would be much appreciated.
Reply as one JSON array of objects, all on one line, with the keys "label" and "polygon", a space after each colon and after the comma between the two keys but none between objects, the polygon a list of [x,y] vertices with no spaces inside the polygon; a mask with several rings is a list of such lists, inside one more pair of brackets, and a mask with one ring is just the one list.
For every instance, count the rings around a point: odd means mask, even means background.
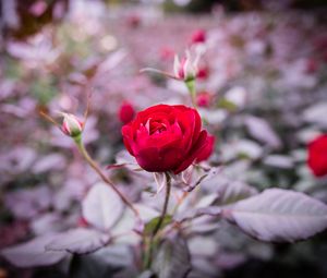
[{"label": "slanting stem below the closed bud on the left", "polygon": [[132,203],[116,188],[113,182],[106,177],[106,174],[101,171],[99,166],[96,164],[96,161],[93,160],[93,158],[88,155],[88,152],[86,150],[84,144],[82,143],[82,136],[78,135],[74,137],[74,141],[78,147],[80,153],[83,155],[85,160],[88,162],[88,165],[97,172],[97,174],[102,179],[104,182],[106,182],[121,198],[121,201],[130,207],[133,213],[138,217],[138,211],[136,208],[132,205]]}]

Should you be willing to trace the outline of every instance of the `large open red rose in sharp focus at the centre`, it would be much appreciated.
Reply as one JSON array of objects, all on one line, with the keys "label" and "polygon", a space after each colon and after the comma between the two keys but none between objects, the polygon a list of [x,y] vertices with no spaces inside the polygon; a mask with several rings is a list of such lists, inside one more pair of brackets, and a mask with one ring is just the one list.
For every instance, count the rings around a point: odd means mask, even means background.
[{"label": "large open red rose in sharp focus at the centre", "polygon": [[213,136],[201,125],[195,109],[157,105],[122,128],[123,142],[144,170],[179,173],[195,160],[208,158],[213,150]]}]

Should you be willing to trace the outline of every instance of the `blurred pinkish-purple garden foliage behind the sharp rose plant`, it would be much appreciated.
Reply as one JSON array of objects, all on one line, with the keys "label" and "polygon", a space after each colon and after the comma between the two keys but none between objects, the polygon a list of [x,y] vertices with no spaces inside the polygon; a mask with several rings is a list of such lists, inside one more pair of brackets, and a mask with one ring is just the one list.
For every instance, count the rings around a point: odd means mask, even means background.
[{"label": "blurred pinkish-purple garden foliage behind the sharp rose plant", "polygon": [[[172,72],[174,53],[198,40],[207,51],[197,105],[217,136],[210,164],[259,191],[327,202],[326,178],[306,166],[307,143],[327,131],[326,12],[325,0],[1,0],[0,247],[86,225],[80,203],[97,177],[39,112],[81,116],[92,92],[85,142],[112,164],[123,106],[191,105],[182,83],[140,70]],[[144,180],[113,179],[137,198]],[[268,244],[229,229],[190,243],[191,253],[203,249],[198,277],[327,277],[326,232]],[[68,276],[0,257],[0,277]]]}]

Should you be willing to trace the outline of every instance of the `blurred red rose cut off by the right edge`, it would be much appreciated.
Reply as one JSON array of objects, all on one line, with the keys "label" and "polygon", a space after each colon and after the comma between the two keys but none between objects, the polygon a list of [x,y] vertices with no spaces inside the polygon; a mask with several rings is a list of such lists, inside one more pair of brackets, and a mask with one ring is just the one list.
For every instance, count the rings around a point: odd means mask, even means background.
[{"label": "blurred red rose cut off by the right edge", "polygon": [[327,134],[308,144],[307,165],[316,177],[327,174]]}]

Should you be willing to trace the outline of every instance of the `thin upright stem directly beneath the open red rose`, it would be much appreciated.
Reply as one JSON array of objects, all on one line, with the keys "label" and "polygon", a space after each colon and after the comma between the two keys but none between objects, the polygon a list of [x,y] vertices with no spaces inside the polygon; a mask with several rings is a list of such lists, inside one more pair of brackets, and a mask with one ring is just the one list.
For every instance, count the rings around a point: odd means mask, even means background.
[{"label": "thin upright stem directly beneath the open red rose", "polygon": [[153,253],[154,253],[154,245],[155,245],[155,242],[156,242],[156,235],[157,235],[158,231],[160,230],[160,228],[164,223],[164,220],[165,220],[165,217],[166,217],[166,214],[167,214],[169,197],[170,197],[171,178],[168,173],[165,173],[165,174],[166,174],[167,184],[166,184],[166,195],[165,195],[162,211],[161,211],[159,221],[157,222],[157,225],[156,225],[148,242],[145,239],[146,243],[147,243],[146,245],[148,246],[146,258],[145,258],[145,268],[146,269],[149,268],[150,265],[152,265],[152,258],[153,258]]}]

